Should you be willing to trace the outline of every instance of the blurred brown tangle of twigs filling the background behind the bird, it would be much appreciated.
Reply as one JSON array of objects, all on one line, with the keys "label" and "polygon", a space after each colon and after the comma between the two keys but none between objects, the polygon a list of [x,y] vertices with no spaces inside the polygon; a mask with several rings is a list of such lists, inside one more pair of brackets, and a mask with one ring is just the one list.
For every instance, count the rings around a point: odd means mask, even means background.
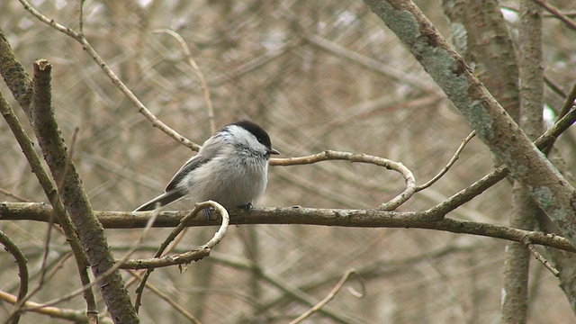
[{"label": "blurred brown tangle of twigs filling the background behind the bird", "polygon": [[[417,1],[449,38],[438,3]],[[571,1],[550,3],[567,12],[576,10]],[[77,28],[76,1],[36,4],[42,14]],[[74,158],[94,209],[130,211],[160,193],[192,152],[152,128],[75,40],[37,22],[17,2],[0,1],[0,13],[2,28],[25,67],[36,58],[54,65],[53,105],[68,143],[78,128]],[[514,34],[517,21],[513,10],[507,13]],[[86,2],[85,36],[94,48],[148,109],[196,143],[211,135],[206,102],[179,44],[166,33],[153,32],[164,28],[184,38],[202,68],[217,126],[238,118],[257,121],[283,157],[325,149],[363,152],[401,161],[423,184],[446,165],[471,131],[392,32],[359,1]],[[573,31],[547,18],[544,40],[546,76],[566,90],[576,64]],[[338,48],[361,57],[347,58]],[[367,66],[369,60],[379,68]],[[0,89],[9,96],[4,85]],[[562,100],[546,89],[550,107],[559,107]],[[0,134],[0,188],[45,201],[5,123],[0,123]],[[574,132],[564,135],[557,147],[573,165]],[[488,149],[474,139],[441,181],[401,211],[441,202],[491,170]],[[402,187],[400,176],[375,166],[338,161],[275,166],[259,204],[370,208]],[[450,216],[507,224],[509,194],[509,183],[502,182]],[[0,228],[23,247],[34,274],[45,225],[14,221],[2,222]],[[135,257],[150,257],[168,230],[152,229]],[[201,245],[212,232],[189,229],[180,246]],[[121,257],[140,229],[106,233]],[[206,323],[286,322],[309,307],[229,261],[253,263],[286,288],[302,289],[312,302],[319,302],[354,267],[365,279],[365,297],[342,291],[326,307],[351,322],[491,323],[500,319],[505,243],[419,229],[245,226],[230,229],[213,257],[184,274],[175,267],[159,269],[150,282]],[[50,250],[49,266],[58,270],[36,302],[79,286],[74,264],[66,259],[64,238],[53,238]],[[2,289],[14,293],[17,270],[6,254],[0,254],[0,262],[8,265],[0,269]],[[358,288],[353,281],[350,285]],[[530,322],[574,319],[557,279],[536,263],[531,267],[530,298]],[[58,306],[84,305],[78,297]],[[10,310],[10,305],[0,305],[0,314]],[[143,322],[182,321],[149,292],[140,314]],[[330,322],[320,315],[313,319]],[[32,314],[23,320],[53,322]]]}]

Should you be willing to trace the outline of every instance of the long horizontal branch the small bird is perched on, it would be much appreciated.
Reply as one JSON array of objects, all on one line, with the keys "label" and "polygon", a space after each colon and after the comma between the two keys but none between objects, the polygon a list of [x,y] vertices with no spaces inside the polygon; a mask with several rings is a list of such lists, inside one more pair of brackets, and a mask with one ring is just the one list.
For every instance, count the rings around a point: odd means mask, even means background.
[{"label": "long horizontal branch the small bird is perched on", "polygon": [[[176,227],[189,211],[163,211],[157,215],[153,227]],[[0,220],[48,221],[52,209],[41,202],[0,202]],[[144,228],[152,211],[94,211],[106,229]],[[206,220],[203,216],[189,220],[188,226],[218,226],[220,220]],[[514,229],[482,222],[434,219],[426,211],[401,212],[379,210],[341,210],[284,207],[255,208],[251,211],[230,211],[230,225],[241,224],[302,224],[356,228],[436,229],[452,233],[501,238],[522,243],[530,238],[533,244],[576,252],[567,238],[544,232]]]}]

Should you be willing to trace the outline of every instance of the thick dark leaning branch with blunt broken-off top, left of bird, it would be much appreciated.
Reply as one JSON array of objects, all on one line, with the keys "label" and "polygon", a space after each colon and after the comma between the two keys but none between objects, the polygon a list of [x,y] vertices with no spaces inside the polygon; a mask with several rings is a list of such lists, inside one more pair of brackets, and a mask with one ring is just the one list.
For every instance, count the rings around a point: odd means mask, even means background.
[{"label": "thick dark leaning branch with blunt broken-off top, left of bird", "polygon": [[[90,260],[96,278],[102,278],[100,290],[112,319],[122,323],[138,322],[133,309],[130,310],[130,295],[126,291],[118,271],[107,274],[114,267],[114,258],[108,247],[100,222],[94,217],[92,206],[71,160],[68,148],[62,139],[56,116],[51,106],[51,65],[46,60],[34,62],[34,92],[31,106],[31,124],[42,148],[54,181],[62,188],[58,199],[64,203],[75,225],[75,232],[82,241],[86,256]],[[83,285],[89,285],[85,280]],[[87,290],[85,291],[87,292]],[[89,305],[88,314],[97,313],[95,303]]]}]

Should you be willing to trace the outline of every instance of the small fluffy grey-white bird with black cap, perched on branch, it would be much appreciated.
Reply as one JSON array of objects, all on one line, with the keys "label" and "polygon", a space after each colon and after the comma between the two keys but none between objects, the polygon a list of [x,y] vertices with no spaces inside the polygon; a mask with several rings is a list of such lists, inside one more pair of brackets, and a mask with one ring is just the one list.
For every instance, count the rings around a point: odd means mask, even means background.
[{"label": "small fluffy grey-white bird with black cap, perched on branch", "polygon": [[206,139],[198,154],[172,177],[162,193],[135,211],[152,211],[187,197],[213,200],[225,208],[249,208],[266,190],[272,148],[266,130],[252,121],[236,121]]}]

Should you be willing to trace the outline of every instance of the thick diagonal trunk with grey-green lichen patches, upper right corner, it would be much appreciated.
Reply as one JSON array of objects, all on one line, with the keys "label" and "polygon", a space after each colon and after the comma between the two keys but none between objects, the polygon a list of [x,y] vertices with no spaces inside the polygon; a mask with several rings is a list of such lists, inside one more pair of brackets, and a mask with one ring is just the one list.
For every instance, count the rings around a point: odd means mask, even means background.
[{"label": "thick diagonal trunk with grey-green lichen patches, upper right corner", "polygon": [[[576,245],[576,190],[527,138],[412,1],[365,0],[410,49],[484,144]],[[510,145],[514,143],[514,145]],[[532,172],[533,170],[538,172]]]}]

